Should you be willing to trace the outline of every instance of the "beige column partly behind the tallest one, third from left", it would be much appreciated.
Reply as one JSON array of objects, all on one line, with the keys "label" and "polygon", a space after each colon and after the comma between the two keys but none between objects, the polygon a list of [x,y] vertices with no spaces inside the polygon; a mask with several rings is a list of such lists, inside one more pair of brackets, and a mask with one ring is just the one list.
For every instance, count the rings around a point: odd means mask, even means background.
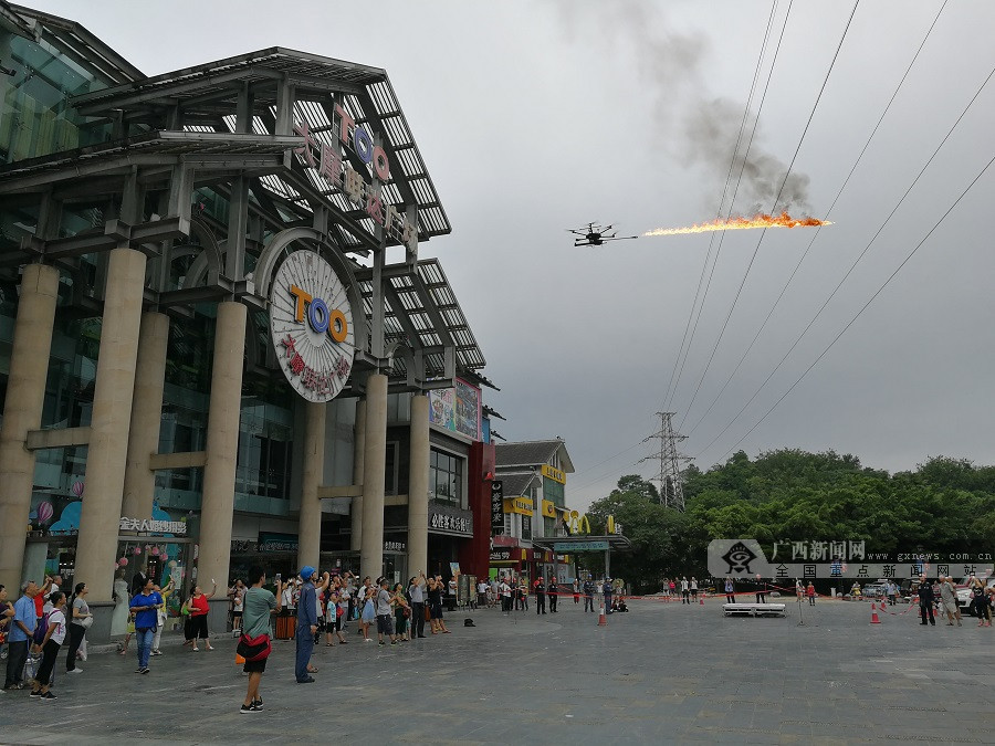
[{"label": "beige column partly behind the tallest one, third from left", "polygon": [[168,340],[169,317],[156,312],[142,314],[132,428],[128,433],[128,462],[125,466],[124,501],[121,505],[121,514],[134,518],[151,517],[156,475],[149,470],[148,462],[149,455],[159,451]]}]

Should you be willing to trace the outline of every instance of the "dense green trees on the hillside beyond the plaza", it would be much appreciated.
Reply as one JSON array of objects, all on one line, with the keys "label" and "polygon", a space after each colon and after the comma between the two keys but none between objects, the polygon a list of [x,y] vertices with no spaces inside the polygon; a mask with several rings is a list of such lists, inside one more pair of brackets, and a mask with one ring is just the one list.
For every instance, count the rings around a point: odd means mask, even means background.
[{"label": "dense green trees on the hillside beyond the plaza", "polygon": [[[754,538],[767,553],[785,540],[862,540],[868,553],[888,555],[995,550],[995,466],[966,459],[934,456],[892,475],[835,451],[781,449],[753,461],[739,451],[708,471],[689,467],[684,479],[684,513],[660,505],[656,486],[635,474],[588,512],[595,533],[609,515],[621,524],[633,550],[612,555],[612,574],[638,589],[706,577],[715,538]],[[597,570],[600,556],[589,559]]]}]

